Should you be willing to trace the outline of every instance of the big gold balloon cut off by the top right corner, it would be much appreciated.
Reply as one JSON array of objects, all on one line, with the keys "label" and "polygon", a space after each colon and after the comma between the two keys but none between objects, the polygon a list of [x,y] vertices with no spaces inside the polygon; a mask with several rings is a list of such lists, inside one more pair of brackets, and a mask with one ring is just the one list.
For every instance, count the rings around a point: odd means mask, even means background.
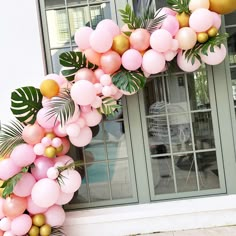
[{"label": "big gold balloon cut off by the top right corner", "polygon": [[217,12],[218,14],[229,14],[236,10],[235,0],[210,0],[211,11]]}]

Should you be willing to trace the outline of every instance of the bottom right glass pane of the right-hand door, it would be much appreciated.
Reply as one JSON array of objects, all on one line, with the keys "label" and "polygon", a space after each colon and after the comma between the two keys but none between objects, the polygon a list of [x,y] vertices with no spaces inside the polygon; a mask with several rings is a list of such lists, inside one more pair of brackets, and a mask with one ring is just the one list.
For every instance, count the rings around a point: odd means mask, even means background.
[{"label": "bottom right glass pane of the right-hand door", "polygon": [[220,187],[215,152],[197,153],[197,165],[200,189]]}]

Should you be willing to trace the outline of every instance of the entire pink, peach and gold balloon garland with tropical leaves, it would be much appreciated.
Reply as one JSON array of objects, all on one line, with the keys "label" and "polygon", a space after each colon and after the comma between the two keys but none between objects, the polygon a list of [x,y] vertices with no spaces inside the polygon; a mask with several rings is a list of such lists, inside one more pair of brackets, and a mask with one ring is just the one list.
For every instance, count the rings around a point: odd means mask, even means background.
[{"label": "entire pink, peach and gold balloon garland with tropical leaves", "polygon": [[0,134],[0,236],[63,235],[64,204],[81,184],[70,145],[91,142],[91,127],[120,108],[118,100],[144,87],[174,61],[185,72],[226,56],[220,14],[234,0],[168,0],[170,8],[120,10],[125,25],[102,20],[75,33],[78,49],[62,53],[61,73],[45,76],[40,88],[16,89],[11,110],[17,121]]}]

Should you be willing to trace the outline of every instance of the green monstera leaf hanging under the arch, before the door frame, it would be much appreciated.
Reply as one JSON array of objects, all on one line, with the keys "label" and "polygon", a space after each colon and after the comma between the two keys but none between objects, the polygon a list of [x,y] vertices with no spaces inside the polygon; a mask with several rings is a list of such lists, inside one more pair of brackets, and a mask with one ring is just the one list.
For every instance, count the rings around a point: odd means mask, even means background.
[{"label": "green monstera leaf hanging under the arch, before the door frame", "polygon": [[112,82],[120,90],[136,93],[144,87],[146,77],[141,71],[127,71],[122,68],[112,75]]}]

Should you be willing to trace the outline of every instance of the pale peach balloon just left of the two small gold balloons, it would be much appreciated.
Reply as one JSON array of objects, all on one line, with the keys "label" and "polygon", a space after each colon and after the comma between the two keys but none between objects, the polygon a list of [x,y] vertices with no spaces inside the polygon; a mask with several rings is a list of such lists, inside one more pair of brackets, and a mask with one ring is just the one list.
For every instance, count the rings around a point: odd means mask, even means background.
[{"label": "pale peach balloon just left of the two small gold balloons", "polygon": [[179,48],[183,50],[188,50],[194,47],[197,42],[197,34],[190,27],[181,28],[175,36],[178,40]]}]

